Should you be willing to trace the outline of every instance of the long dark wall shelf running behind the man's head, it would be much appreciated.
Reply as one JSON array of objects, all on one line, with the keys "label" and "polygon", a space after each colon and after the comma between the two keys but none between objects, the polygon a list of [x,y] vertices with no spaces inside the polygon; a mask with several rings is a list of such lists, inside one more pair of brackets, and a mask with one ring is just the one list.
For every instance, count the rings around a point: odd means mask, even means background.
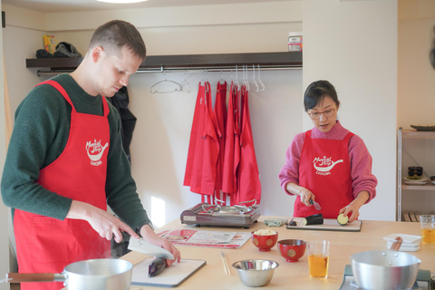
[{"label": "long dark wall shelf running behind the man's head", "polygon": [[[82,58],[40,58],[26,59],[27,68],[43,68],[39,73],[72,72]],[[140,64],[140,72],[181,71],[181,70],[222,70],[259,65],[261,69],[300,69],[302,52],[286,53],[220,53],[220,54],[179,54],[150,55]]]}]

